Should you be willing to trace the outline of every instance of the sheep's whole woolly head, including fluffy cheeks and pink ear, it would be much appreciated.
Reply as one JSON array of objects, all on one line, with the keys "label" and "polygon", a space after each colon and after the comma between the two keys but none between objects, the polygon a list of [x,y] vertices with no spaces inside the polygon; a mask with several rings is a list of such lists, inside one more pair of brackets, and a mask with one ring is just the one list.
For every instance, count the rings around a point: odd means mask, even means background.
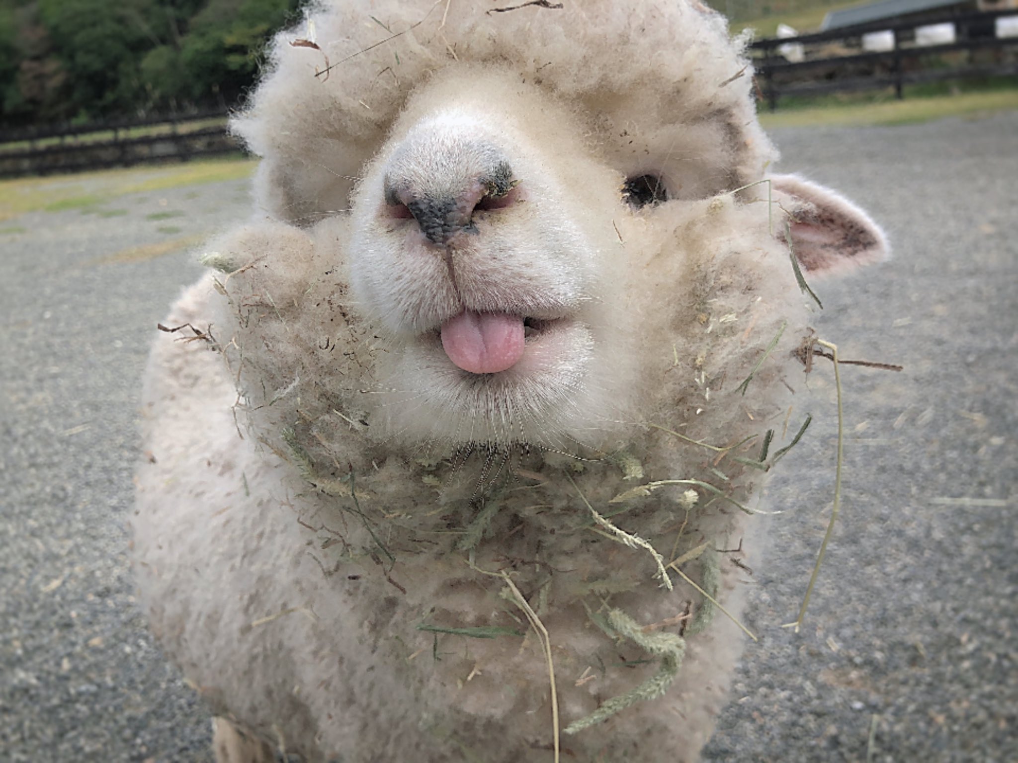
[{"label": "sheep's whole woolly head, including fluffy cheeks and pink ear", "polygon": [[433,456],[706,427],[711,395],[788,310],[804,320],[779,211],[810,276],[882,256],[829,191],[777,180],[769,208],[745,188],[775,155],[741,47],[699,3],[448,24],[435,7],[388,8],[408,31],[382,45],[377,8],[335,4],[318,44],[342,64],[317,76],[320,54],[282,40],[234,124],[282,226],[229,245],[250,253],[237,377],[252,420],[327,468],[349,427]]}]

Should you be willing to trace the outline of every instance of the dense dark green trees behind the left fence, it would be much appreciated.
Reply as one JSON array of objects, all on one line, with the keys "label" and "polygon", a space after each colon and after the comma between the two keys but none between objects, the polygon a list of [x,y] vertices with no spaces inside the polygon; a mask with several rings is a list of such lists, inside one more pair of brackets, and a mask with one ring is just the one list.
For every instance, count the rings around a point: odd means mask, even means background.
[{"label": "dense dark green trees behind the left fence", "polygon": [[0,0],[0,125],[234,104],[301,0]]}]

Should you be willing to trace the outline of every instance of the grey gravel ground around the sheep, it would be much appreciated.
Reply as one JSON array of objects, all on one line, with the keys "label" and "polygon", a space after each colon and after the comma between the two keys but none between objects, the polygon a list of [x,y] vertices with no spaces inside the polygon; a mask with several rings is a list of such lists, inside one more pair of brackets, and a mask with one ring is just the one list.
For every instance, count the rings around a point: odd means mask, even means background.
[{"label": "grey gravel ground around the sheep", "polygon": [[[845,358],[772,487],[757,634],[708,761],[1018,760],[1018,113],[786,130],[786,160],[870,209],[895,258],[815,284]],[[243,182],[0,225],[0,761],[208,761],[209,719],[134,605],[126,520],[153,328],[199,269],[166,239],[247,214]],[[180,231],[166,230],[165,213]],[[164,230],[159,230],[162,227]],[[24,232],[17,232],[24,229]],[[148,248],[133,249],[139,245]]]}]

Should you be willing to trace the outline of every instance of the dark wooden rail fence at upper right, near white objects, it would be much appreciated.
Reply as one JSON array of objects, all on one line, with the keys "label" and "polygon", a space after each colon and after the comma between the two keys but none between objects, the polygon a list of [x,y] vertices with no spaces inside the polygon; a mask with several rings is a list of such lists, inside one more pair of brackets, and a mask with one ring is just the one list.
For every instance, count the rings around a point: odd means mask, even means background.
[{"label": "dark wooden rail fence at upper right, near white objects", "polygon": [[[906,84],[1000,75],[1015,76],[1018,85],[1018,37],[996,35],[997,19],[1007,16],[1018,18],[1014,10],[945,13],[759,40],[752,52],[760,97],[774,111],[778,100],[787,96],[894,87],[895,95],[903,98]],[[917,27],[939,23],[954,24],[954,42],[916,42]],[[863,49],[863,36],[876,32],[894,36],[892,50]],[[780,52],[784,46],[792,46],[798,55],[786,57]]]}]

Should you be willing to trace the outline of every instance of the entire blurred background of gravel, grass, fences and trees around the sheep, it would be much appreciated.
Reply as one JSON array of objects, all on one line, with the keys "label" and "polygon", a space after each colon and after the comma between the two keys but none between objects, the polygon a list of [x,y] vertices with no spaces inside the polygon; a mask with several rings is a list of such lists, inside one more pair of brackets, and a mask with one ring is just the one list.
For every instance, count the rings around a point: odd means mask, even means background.
[{"label": "entire blurred background of gravel, grass, fences and trees around the sheep", "polygon": [[[754,31],[777,169],[846,192],[895,249],[814,285],[816,330],[904,370],[842,371],[845,503],[793,634],[836,445],[830,368],[810,375],[748,578],[760,641],[704,759],[1013,761],[1018,0],[712,4]],[[308,34],[299,5],[0,0],[2,763],[211,760],[134,601],[140,376],[202,242],[257,213],[226,120],[273,33]]]}]

